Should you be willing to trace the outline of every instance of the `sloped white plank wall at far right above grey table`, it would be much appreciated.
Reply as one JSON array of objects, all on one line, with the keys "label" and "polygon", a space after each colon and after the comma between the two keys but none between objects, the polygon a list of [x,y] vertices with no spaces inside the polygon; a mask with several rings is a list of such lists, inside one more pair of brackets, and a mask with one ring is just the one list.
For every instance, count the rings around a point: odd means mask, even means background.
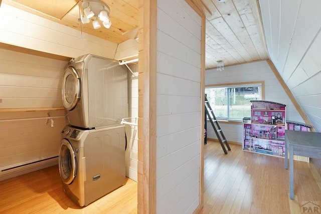
[{"label": "sloped white plank wall at far right above grey table", "polygon": [[314,129],[320,132],[320,1],[259,3],[270,59]]}]

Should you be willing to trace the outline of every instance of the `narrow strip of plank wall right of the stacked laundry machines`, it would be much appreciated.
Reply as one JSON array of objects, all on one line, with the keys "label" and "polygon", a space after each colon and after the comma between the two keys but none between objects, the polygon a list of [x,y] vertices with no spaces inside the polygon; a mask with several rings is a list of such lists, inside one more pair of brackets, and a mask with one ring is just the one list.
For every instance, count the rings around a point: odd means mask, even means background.
[{"label": "narrow strip of plank wall right of the stacked laundry machines", "polygon": [[[138,123],[138,64],[131,64],[128,71],[128,119],[130,123]],[[125,125],[127,149],[125,153],[126,177],[138,181],[138,133],[136,125]]]}]

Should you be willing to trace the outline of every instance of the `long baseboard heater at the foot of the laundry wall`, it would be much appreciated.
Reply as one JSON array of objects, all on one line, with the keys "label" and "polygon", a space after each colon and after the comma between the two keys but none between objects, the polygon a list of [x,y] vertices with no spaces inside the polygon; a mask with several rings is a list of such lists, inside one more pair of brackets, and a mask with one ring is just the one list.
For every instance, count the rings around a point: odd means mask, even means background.
[{"label": "long baseboard heater at the foot of the laundry wall", "polygon": [[0,168],[0,181],[58,164],[58,156]]}]

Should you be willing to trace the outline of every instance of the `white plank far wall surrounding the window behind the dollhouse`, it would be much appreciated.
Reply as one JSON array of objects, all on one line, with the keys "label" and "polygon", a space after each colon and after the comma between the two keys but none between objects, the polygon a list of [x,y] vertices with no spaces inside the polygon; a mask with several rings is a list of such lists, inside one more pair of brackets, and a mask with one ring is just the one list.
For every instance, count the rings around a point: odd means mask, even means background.
[{"label": "white plank far wall surrounding the window behind the dollhouse", "polygon": [[[295,109],[292,101],[288,98],[281,84],[276,79],[273,71],[266,61],[246,63],[236,66],[228,66],[224,71],[216,69],[206,70],[205,87],[211,84],[240,83],[250,81],[264,81],[265,100],[286,105],[286,120],[304,123]],[[220,123],[224,135],[228,141],[242,144],[242,124]],[[217,139],[210,122],[207,123],[208,137]]]}]

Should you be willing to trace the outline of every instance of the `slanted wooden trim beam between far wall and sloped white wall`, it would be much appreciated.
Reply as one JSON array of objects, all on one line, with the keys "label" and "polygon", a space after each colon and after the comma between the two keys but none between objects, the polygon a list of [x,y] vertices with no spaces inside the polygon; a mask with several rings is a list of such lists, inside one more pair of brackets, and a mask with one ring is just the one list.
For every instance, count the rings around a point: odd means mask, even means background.
[{"label": "slanted wooden trim beam between far wall and sloped white wall", "polygon": [[274,64],[272,63],[271,60],[266,60],[266,62],[269,64],[271,70],[273,71],[276,79],[279,81],[279,83],[281,84],[281,86],[283,87],[285,93],[287,94],[287,96],[290,98],[290,100],[292,101],[295,109],[297,110],[297,112],[300,114],[300,116],[302,117],[302,119],[304,120],[304,122],[311,126],[310,131],[315,132],[312,124],[310,123],[309,119],[307,118],[307,116],[304,114],[301,106],[297,103],[296,99],[294,98],[292,92],[290,91],[290,89],[287,87],[287,85],[285,84],[283,78],[281,77],[280,73],[277,71],[277,69],[275,68]]}]

